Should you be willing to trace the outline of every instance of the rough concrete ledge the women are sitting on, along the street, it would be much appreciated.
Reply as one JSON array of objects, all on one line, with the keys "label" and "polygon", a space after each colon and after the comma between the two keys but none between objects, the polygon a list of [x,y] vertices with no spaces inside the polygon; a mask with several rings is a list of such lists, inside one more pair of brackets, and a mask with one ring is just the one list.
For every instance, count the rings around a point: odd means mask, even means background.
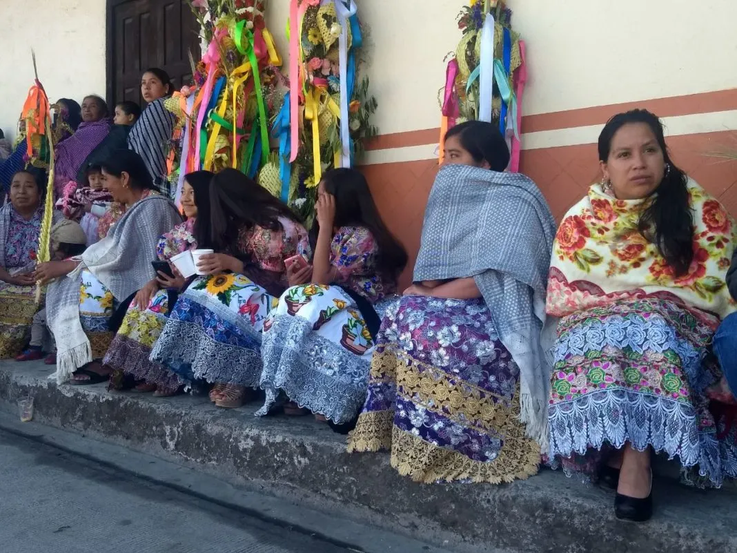
[{"label": "rough concrete ledge the women are sitting on, along the street", "polygon": [[420,485],[388,454],[349,455],[310,417],[257,418],[206,397],[156,399],[60,386],[43,364],[0,362],[0,409],[35,397],[35,421],[178,462],[220,479],[403,532],[457,552],[735,552],[733,488],[703,492],[657,479],[648,524],[616,521],[613,494],[543,470],[503,486]]}]

